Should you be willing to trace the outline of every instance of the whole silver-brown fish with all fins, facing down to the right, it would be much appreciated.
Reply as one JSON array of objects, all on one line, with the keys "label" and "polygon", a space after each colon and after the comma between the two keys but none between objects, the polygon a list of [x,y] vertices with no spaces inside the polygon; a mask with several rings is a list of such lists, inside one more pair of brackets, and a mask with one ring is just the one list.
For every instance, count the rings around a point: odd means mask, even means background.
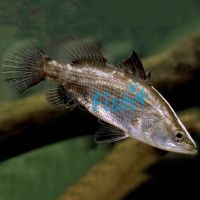
[{"label": "whole silver-brown fish with all fins, facing down to the right", "polygon": [[17,43],[5,54],[2,77],[17,94],[48,80],[48,102],[67,110],[81,105],[100,121],[96,143],[128,137],[153,147],[196,154],[197,146],[167,100],[153,87],[135,51],[113,64],[89,43],[72,42],[65,59],[50,58],[36,41]]}]

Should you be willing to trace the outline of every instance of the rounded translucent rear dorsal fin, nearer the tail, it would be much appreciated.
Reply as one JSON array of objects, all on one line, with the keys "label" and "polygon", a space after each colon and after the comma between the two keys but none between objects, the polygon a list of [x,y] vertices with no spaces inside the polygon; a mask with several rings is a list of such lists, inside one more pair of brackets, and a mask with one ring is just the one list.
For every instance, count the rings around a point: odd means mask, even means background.
[{"label": "rounded translucent rear dorsal fin, nearer the tail", "polygon": [[101,51],[93,44],[82,44],[72,42],[67,49],[67,62],[74,65],[79,64],[105,64],[106,59]]}]

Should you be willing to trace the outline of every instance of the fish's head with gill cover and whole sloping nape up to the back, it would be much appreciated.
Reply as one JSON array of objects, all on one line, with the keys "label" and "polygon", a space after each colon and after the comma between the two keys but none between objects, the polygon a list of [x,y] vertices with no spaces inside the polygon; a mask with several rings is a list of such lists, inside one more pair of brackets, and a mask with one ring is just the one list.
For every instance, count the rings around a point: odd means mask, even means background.
[{"label": "fish's head with gill cover and whole sloping nape up to the back", "polygon": [[197,147],[172,107],[153,88],[152,109],[140,122],[143,140],[157,148],[183,154],[196,154]]}]

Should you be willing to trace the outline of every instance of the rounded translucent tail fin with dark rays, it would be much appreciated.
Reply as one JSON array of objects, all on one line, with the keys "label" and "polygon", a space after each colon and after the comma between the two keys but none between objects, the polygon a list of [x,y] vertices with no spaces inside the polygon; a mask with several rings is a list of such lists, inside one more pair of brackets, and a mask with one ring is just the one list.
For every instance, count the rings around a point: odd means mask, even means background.
[{"label": "rounded translucent tail fin with dark rays", "polygon": [[2,79],[11,85],[17,94],[44,80],[42,67],[50,60],[38,47],[36,41],[16,44],[2,62]]}]

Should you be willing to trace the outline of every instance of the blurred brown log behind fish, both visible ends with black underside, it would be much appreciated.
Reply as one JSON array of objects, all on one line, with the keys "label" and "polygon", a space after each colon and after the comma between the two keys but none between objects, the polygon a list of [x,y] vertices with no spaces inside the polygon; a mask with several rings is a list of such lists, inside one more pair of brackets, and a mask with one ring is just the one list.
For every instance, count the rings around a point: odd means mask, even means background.
[{"label": "blurred brown log behind fish, both visible ends with black underside", "polygon": [[[144,65],[152,72],[153,85],[167,99],[175,90],[181,92],[176,98],[184,95],[184,102],[190,102],[191,96],[185,95],[181,88],[195,85],[199,80],[199,59],[200,34],[196,34],[166,52],[145,59]],[[180,89],[176,90],[177,87]],[[79,126],[74,126],[74,121]],[[2,103],[0,160],[65,138],[93,134],[97,127],[96,118],[79,109],[65,113],[51,110],[43,95]]]}]

